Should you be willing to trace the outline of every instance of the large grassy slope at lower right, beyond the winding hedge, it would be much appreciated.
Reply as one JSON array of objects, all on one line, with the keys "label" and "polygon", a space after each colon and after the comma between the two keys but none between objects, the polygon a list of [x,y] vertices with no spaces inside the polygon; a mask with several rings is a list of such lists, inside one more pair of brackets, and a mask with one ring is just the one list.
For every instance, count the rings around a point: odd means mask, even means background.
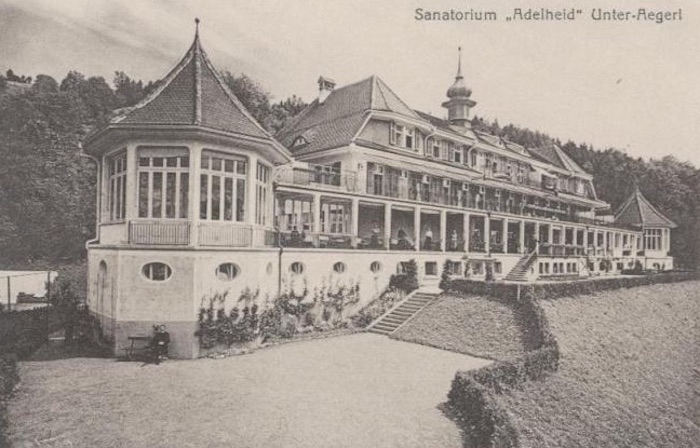
[{"label": "large grassy slope at lower right, beyond the winding hedge", "polygon": [[560,370],[499,398],[524,446],[700,446],[700,282],[542,305]]}]

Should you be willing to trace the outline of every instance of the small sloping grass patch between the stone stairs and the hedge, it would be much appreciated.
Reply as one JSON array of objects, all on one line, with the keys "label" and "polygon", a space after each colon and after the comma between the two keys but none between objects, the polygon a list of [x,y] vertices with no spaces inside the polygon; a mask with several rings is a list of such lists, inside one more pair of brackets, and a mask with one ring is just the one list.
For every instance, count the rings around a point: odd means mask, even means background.
[{"label": "small sloping grass patch between the stone stairs and the hedge", "polygon": [[528,338],[510,305],[483,297],[442,296],[393,338],[489,359],[525,353]]}]

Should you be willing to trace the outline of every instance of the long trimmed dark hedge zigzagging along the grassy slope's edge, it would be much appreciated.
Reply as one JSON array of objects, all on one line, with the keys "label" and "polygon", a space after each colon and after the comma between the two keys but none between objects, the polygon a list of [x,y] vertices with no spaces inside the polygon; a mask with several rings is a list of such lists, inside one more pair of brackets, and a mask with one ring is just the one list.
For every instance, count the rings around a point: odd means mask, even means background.
[{"label": "long trimmed dark hedge zigzagging along the grassy slope's edge", "polygon": [[537,300],[697,279],[700,279],[698,272],[671,272],[520,286],[462,279],[450,281],[446,286],[451,291],[512,301],[523,315],[526,333],[533,338],[531,346],[534,350],[523,356],[455,375],[448,398],[450,405],[460,415],[463,430],[471,438],[470,445],[478,448],[519,447],[518,431],[506,410],[494,399],[494,394],[501,394],[528,381],[540,380],[559,368],[559,345]]}]

